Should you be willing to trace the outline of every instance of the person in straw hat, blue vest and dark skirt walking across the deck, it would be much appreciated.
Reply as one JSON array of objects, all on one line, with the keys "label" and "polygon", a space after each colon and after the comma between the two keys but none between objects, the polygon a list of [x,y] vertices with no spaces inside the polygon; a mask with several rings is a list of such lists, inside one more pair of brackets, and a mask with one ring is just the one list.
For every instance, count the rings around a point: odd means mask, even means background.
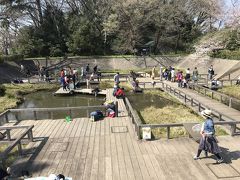
[{"label": "person in straw hat, blue vest and dark skirt walking across the deck", "polygon": [[215,128],[214,128],[214,122],[212,119],[212,111],[209,109],[205,109],[204,111],[201,112],[201,114],[206,119],[202,124],[202,128],[200,131],[202,138],[199,143],[197,155],[194,156],[194,160],[200,159],[200,154],[202,150],[204,150],[206,156],[207,156],[207,152],[212,153],[217,157],[217,163],[222,163],[223,158],[220,156],[221,150],[214,136]]}]

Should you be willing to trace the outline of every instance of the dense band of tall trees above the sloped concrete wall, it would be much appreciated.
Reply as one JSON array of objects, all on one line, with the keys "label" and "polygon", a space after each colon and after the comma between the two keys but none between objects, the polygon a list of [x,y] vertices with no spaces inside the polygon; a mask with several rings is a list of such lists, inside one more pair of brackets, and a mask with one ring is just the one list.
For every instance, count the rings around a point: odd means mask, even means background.
[{"label": "dense band of tall trees above the sloped concrete wall", "polygon": [[221,20],[219,0],[2,0],[3,54],[26,57],[192,50]]}]

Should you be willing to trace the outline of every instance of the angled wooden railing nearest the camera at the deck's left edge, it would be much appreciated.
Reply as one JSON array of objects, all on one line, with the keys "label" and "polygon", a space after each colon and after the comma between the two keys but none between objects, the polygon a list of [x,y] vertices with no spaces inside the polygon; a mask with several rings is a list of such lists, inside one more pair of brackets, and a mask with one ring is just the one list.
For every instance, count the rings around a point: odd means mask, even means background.
[{"label": "angled wooden railing nearest the camera at the deck's left edge", "polygon": [[[0,126],[0,130],[6,130],[7,134],[7,140],[8,140],[8,147],[0,154],[0,160],[2,161],[2,164],[5,164],[6,159],[8,158],[8,154],[17,146],[18,154],[21,156],[22,155],[22,144],[21,140],[27,136],[27,139],[29,142],[33,142],[33,133],[32,133],[32,126]],[[12,140],[11,138],[11,130],[13,129],[26,129],[20,136]]]}]

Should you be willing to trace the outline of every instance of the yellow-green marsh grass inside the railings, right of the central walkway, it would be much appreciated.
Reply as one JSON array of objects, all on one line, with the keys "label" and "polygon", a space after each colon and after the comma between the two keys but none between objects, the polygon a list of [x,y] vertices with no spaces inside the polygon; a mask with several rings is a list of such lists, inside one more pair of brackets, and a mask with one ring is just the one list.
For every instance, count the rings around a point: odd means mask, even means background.
[{"label": "yellow-green marsh grass inside the railings, right of the central walkway", "polygon": [[[143,110],[140,110],[139,116],[141,117],[143,123],[145,124],[171,124],[171,123],[203,123],[204,119],[202,116],[199,116],[195,111],[186,107],[178,99],[170,96],[169,94],[157,91],[150,90],[145,91],[146,94],[151,94],[154,96],[159,96],[163,99],[170,100],[174,102],[172,105],[166,105],[163,108],[157,108],[154,106],[147,106]],[[161,102],[159,102],[161,103]],[[166,138],[167,129],[166,128],[155,128],[152,129],[152,135],[154,138]],[[187,132],[184,127],[173,127],[170,130],[170,137],[181,137],[186,136]],[[227,135],[226,131],[223,130],[220,126],[216,126],[216,135]]]}]

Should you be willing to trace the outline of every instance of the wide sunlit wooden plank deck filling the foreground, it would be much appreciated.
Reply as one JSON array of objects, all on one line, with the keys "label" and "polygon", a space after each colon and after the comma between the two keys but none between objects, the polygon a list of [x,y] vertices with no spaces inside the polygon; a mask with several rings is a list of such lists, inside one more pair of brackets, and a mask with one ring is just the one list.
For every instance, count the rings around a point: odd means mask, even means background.
[{"label": "wide sunlit wooden plank deck filling the foreground", "polygon": [[[107,99],[114,99],[111,91]],[[74,180],[240,179],[240,137],[219,137],[226,163],[215,164],[212,157],[194,161],[198,144],[189,138],[138,141],[123,101],[118,101],[117,118],[21,121],[34,125],[39,141],[28,146],[35,152],[28,162],[15,168],[35,177],[61,173]]]}]

